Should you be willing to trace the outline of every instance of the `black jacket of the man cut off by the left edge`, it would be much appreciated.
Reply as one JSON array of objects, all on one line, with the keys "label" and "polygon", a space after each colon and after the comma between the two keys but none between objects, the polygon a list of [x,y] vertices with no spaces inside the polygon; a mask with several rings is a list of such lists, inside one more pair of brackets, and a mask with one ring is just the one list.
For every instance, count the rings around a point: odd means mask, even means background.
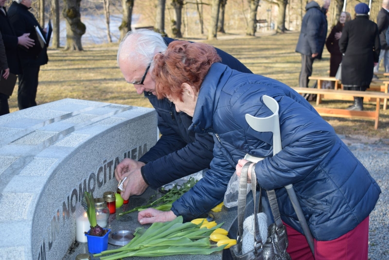
[{"label": "black jacket of the man cut off by the left edge", "polygon": [[18,36],[11,25],[11,21],[7,15],[5,7],[4,11],[6,15],[0,11],[0,32],[3,37],[5,53],[7,55],[8,68],[11,73],[18,75],[21,73],[18,53]]}]

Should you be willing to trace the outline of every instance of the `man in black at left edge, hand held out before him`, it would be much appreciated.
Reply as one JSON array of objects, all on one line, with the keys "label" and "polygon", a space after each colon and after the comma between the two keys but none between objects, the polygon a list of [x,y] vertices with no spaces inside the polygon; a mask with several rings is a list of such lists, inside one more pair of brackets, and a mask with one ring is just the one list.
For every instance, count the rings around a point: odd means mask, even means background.
[{"label": "man in black at left edge, hand held out before him", "polygon": [[[23,34],[19,37],[16,35],[9,20],[7,10],[4,7],[5,2],[6,0],[0,0],[0,36],[4,42],[8,62],[6,68],[2,68],[3,77],[0,78],[0,116],[9,113],[8,98],[15,87],[15,75],[20,75],[22,72],[18,46],[25,49],[34,46],[34,40],[29,37],[30,34]],[[6,70],[7,68],[8,70]],[[7,85],[8,89],[4,85]]]}]

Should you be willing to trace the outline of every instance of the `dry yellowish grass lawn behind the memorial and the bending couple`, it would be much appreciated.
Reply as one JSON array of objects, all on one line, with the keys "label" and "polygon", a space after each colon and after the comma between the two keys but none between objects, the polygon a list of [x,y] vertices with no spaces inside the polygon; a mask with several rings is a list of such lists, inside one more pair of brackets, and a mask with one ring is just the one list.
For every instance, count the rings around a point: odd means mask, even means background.
[{"label": "dry yellowish grass lawn behind the memorial and the bending couple", "polygon": [[[217,41],[202,41],[232,54],[256,74],[297,87],[301,56],[294,50],[298,36],[298,33],[260,37],[223,35]],[[90,46],[84,52],[49,51],[50,61],[41,67],[39,74],[37,103],[75,98],[151,107],[146,98],[137,95],[135,89],[125,83],[116,64],[117,46],[118,44]],[[325,50],[323,59],[315,61],[313,74],[328,75],[328,69],[329,53]],[[16,93],[17,91],[10,98],[11,112],[18,110]],[[350,104],[351,102],[324,101],[320,105],[345,108]],[[375,110],[375,104],[372,103],[365,103],[364,107],[366,110]],[[374,130],[373,121],[327,117],[325,120],[338,134],[389,138],[388,110],[380,111],[378,130]]]}]

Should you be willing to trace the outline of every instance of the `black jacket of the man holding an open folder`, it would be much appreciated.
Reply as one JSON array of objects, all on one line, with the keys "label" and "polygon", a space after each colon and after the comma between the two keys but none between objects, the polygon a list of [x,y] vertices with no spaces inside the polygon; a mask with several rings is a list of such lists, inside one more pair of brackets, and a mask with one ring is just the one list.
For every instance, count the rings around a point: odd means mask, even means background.
[{"label": "black jacket of the man holding an open folder", "polygon": [[30,38],[35,40],[34,47],[29,49],[19,48],[22,67],[38,67],[47,64],[49,60],[47,57],[47,47],[44,46],[42,50],[40,50],[40,47],[38,47],[39,43],[35,38],[36,31],[34,26],[38,26],[42,35],[45,33],[40,27],[38,21],[35,19],[34,15],[29,11],[29,8],[21,3],[13,1],[8,10],[8,16],[17,36],[30,34]]}]

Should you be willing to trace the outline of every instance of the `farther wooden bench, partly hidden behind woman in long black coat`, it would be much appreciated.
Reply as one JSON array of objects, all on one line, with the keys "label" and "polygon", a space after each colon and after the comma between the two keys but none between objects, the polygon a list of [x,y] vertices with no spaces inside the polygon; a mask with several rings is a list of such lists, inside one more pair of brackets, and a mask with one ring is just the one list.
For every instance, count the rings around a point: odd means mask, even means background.
[{"label": "farther wooden bench, partly hidden behind woman in long black coat", "polygon": [[[388,73],[389,75],[389,73]],[[335,90],[337,89],[343,89],[343,85],[340,84],[340,80],[337,80],[335,77],[322,77],[322,76],[310,76],[310,80],[317,80],[318,81],[318,88],[321,88],[323,81],[334,81],[335,82]],[[339,88],[340,86],[340,88]],[[388,87],[389,87],[389,81],[383,81],[383,80],[372,80],[369,88],[366,89],[366,91],[379,91],[388,93]],[[366,98],[365,101],[372,101],[374,102],[374,98],[364,96]],[[354,100],[353,97],[350,96],[344,96],[344,95],[337,95],[333,96],[332,94],[327,93],[326,95],[318,95],[316,98],[316,104],[320,104],[322,99],[336,99],[336,100]],[[384,98],[384,107],[383,109],[387,109],[388,99]]]}]

